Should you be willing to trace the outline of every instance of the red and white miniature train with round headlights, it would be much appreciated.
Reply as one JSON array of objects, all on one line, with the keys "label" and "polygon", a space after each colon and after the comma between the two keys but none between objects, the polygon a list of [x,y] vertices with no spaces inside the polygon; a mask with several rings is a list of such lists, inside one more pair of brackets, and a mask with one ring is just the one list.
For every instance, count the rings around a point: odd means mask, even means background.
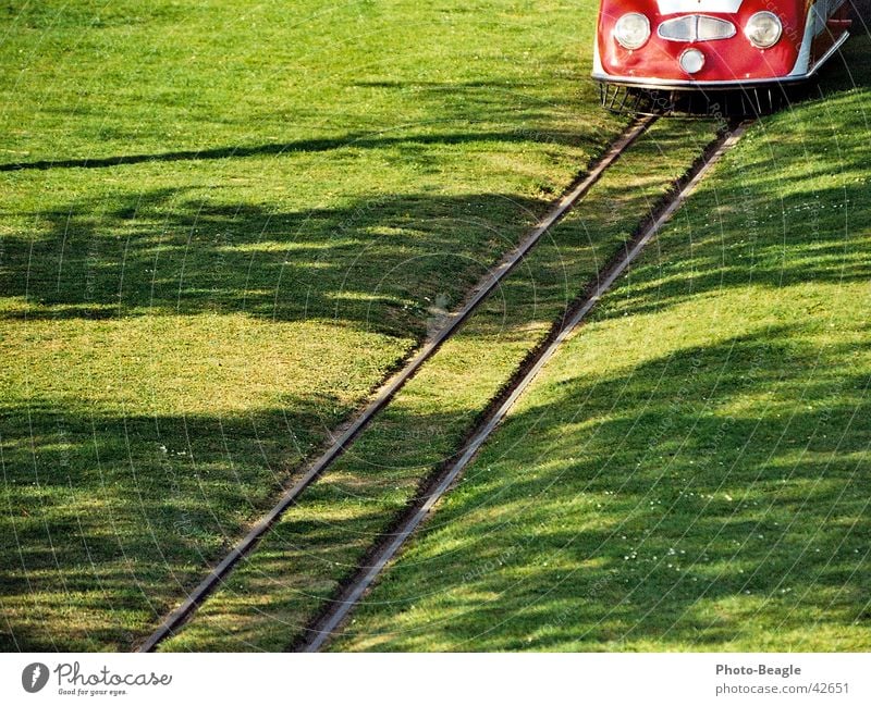
[{"label": "red and white miniature train with round headlights", "polygon": [[603,96],[627,87],[771,95],[837,51],[848,12],[846,0],[601,0],[592,75]]}]

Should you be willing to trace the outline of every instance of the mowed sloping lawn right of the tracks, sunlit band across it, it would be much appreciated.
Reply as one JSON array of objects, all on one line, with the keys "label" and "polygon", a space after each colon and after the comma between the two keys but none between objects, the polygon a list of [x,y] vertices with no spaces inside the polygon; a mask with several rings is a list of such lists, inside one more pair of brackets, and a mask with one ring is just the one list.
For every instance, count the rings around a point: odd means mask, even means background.
[{"label": "mowed sloping lawn right of the tracks, sunlit band across it", "polygon": [[332,648],[871,648],[868,47],[727,154]]}]

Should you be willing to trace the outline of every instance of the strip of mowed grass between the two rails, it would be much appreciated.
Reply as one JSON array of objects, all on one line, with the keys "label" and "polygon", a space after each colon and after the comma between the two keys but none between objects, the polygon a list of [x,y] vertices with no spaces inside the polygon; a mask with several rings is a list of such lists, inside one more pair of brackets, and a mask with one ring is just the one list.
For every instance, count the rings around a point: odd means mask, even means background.
[{"label": "strip of mowed grass between the two rails", "polygon": [[161,649],[300,644],[369,548],[714,135],[711,122],[675,122],[642,136]]}]

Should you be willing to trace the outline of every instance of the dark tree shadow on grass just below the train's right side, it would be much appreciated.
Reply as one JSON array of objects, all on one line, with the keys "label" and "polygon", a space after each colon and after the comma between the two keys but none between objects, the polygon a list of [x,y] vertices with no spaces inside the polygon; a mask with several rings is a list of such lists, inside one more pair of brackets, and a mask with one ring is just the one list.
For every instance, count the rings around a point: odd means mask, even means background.
[{"label": "dark tree shadow on grass just below the train's right side", "polygon": [[[606,315],[661,311],[702,294],[756,286],[849,285],[871,277],[867,99],[834,92],[800,121],[756,131],[702,184],[634,265]],[[821,112],[820,119],[808,115]],[[835,182],[835,184],[833,184]]]}]

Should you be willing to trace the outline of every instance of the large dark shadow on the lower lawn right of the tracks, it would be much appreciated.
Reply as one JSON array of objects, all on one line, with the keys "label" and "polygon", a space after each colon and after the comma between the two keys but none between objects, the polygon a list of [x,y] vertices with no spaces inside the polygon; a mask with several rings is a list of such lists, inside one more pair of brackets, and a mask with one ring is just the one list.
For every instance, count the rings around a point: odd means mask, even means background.
[{"label": "large dark shadow on the lower lawn right of the tracks", "polygon": [[[801,649],[815,620],[856,648],[855,626],[871,628],[871,372],[845,372],[850,346],[817,366],[796,333],[551,384],[372,595],[370,612],[408,630],[375,646],[724,648],[766,634],[758,648]],[[750,413],[720,407],[768,395]]]}]

